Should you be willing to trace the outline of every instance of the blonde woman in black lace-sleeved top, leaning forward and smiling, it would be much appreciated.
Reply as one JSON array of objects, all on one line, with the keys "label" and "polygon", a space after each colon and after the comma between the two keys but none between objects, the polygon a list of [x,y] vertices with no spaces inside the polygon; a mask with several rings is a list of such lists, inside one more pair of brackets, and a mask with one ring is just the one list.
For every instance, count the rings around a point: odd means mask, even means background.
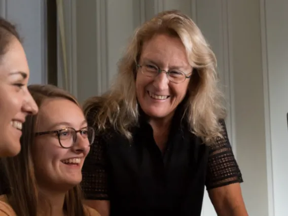
[{"label": "blonde woman in black lace-sleeved top, leaning forward and smiling", "polygon": [[97,131],[83,167],[101,215],[199,215],[204,187],[218,215],[247,215],[225,126],[216,59],[187,16],[136,29],[111,90],[85,105]]}]

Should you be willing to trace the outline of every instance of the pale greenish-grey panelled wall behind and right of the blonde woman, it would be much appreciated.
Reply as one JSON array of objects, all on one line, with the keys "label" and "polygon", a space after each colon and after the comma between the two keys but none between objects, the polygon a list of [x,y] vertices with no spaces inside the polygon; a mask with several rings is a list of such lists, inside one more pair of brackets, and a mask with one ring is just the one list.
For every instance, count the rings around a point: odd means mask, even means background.
[{"label": "pale greenish-grey panelled wall behind and right of the blonde woman", "polygon": [[[179,9],[190,15],[218,59],[228,101],[228,133],[243,174],[248,213],[288,214],[288,172],[282,168],[288,163],[286,0],[97,0],[76,5],[73,76],[82,101],[110,86],[137,25],[162,10]],[[215,215],[206,193],[202,215]]]}]

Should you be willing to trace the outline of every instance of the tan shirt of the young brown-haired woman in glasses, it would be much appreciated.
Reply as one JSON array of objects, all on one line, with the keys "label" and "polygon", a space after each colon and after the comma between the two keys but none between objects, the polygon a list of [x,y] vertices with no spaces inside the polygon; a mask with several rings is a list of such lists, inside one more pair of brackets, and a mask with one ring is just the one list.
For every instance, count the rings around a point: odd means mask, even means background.
[{"label": "tan shirt of the young brown-haired woman in glasses", "polygon": [[[95,209],[84,205],[87,216],[101,216]],[[6,195],[0,196],[0,216],[17,216],[12,207],[8,204]]]}]

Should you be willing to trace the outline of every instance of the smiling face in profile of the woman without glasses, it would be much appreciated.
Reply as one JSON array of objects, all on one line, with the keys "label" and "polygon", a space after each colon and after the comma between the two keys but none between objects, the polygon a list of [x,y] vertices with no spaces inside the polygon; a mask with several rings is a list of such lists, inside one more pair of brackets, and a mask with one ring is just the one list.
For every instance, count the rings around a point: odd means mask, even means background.
[{"label": "smiling face in profile of the woman without glasses", "polygon": [[20,42],[11,36],[7,52],[0,59],[0,157],[20,152],[22,123],[38,107],[27,89],[29,68]]}]

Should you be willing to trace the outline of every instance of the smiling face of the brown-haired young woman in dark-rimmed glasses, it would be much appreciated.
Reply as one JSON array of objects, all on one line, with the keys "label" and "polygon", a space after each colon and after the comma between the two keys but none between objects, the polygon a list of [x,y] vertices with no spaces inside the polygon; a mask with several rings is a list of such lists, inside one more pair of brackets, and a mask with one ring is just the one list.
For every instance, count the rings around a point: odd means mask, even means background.
[{"label": "smiling face of the brown-haired young woman in dark-rimmed glasses", "polygon": [[[81,130],[87,127],[80,107],[62,98],[46,99],[40,107],[37,122],[36,132],[66,127]],[[66,136],[67,133],[63,132],[62,135]],[[35,137],[32,155],[39,187],[66,191],[79,184],[82,181],[83,162],[89,150],[88,138],[79,132],[75,145],[69,149],[60,146],[56,133]]]}]

